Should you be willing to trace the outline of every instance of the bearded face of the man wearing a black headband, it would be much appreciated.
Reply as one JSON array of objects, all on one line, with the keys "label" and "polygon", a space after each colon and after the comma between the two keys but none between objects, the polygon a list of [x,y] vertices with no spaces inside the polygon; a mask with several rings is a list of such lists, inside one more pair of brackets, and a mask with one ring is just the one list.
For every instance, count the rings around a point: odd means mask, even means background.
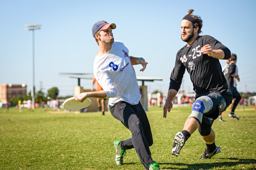
[{"label": "bearded face of the man wearing a black headband", "polygon": [[182,19],[180,24],[181,39],[184,42],[189,42],[194,37],[194,28],[192,22]]}]

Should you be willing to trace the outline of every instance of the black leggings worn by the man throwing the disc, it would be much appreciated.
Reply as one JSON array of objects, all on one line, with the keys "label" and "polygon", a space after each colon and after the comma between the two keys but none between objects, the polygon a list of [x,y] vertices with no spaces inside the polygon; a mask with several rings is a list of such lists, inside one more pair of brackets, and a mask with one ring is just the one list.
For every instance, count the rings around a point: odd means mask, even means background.
[{"label": "black leggings worn by the man throwing the disc", "polygon": [[153,137],[142,105],[140,102],[132,105],[120,101],[113,106],[109,105],[109,110],[113,117],[121,121],[132,132],[132,138],[120,142],[119,146],[125,150],[134,148],[145,169],[148,169],[148,166],[155,162],[149,150],[149,146],[153,144]]}]

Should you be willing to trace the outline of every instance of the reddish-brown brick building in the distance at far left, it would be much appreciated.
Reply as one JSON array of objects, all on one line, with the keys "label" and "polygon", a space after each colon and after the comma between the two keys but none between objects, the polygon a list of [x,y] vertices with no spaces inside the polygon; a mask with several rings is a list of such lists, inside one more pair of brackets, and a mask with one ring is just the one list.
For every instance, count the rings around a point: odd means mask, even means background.
[{"label": "reddish-brown brick building in the distance at far left", "polygon": [[21,84],[0,84],[0,102],[6,103],[12,97],[17,97],[21,95],[22,97],[26,97],[27,93],[27,85]]}]

